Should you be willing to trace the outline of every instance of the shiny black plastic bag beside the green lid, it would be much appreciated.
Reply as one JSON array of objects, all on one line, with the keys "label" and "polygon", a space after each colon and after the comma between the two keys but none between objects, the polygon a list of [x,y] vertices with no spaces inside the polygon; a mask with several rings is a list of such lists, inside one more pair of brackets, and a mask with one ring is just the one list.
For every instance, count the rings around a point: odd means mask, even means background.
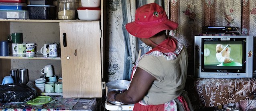
[{"label": "shiny black plastic bag beside the green lid", "polygon": [[26,84],[12,83],[0,85],[0,96],[0,102],[2,103],[24,102],[34,99],[37,92]]}]

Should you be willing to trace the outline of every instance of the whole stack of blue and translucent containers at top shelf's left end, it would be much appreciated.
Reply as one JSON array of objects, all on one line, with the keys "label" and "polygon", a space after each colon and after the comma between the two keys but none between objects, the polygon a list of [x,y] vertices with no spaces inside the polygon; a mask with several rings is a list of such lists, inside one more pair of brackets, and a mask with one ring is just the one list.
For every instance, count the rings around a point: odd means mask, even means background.
[{"label": "whole stack of blue and translucent containers at top shelf's left end", "polygon": [[26,0],[0,0],[0,18],[28,19]]}]

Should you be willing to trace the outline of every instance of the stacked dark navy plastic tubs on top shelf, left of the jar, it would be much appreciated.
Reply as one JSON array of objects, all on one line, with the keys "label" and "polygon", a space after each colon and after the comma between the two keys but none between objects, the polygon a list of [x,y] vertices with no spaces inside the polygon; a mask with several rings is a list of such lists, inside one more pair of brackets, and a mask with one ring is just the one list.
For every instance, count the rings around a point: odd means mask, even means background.
[{"label": "stacked dark navy plastic tubs on top shelf, left of the jar", "polygon": [[56,19],[56,7],[53,0],[30,0],[29,19]]}]

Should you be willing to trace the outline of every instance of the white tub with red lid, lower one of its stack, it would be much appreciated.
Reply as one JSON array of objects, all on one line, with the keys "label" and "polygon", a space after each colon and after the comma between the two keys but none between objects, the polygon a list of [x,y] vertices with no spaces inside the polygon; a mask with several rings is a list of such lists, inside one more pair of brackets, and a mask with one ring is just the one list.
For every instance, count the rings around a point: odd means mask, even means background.
[{"label": "white tub with red lid, lower one of its stack", "polygon": [[99,20],[100,19],[100,8],[77,8],[78,18],[80,20]]}]

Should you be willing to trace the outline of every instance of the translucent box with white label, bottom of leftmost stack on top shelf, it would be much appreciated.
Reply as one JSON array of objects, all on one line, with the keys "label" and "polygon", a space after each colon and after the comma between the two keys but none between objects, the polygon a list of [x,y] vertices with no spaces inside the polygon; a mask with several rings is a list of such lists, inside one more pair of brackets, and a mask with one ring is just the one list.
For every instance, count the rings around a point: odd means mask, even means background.
[{"label": "translucent box with white label, bottom of leftmost stack on top shelf", "polygon": [[29,19],[27,10],[0,10],[0,18]]}]

